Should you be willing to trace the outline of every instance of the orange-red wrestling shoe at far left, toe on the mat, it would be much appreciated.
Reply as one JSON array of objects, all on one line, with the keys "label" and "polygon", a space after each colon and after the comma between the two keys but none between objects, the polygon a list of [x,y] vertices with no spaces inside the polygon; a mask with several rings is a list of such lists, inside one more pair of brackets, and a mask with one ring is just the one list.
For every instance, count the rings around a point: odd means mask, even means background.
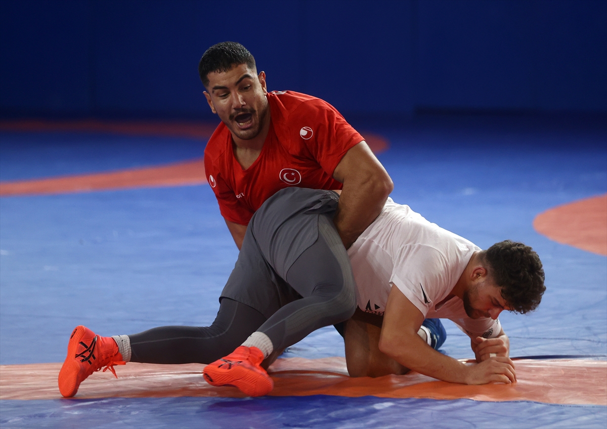
[{"label": "orange-red wrestling shoe at far left, toe on the mat", "polygon": [[59,371],[59,391],[64,397],[72,397],[80,383],[101,367],[109,368],[116,378],[114,365],[126,365],[118,353],[118,345],[112,337],[100,337],[84,326],[76,326],[67,344],[67,357]]}]

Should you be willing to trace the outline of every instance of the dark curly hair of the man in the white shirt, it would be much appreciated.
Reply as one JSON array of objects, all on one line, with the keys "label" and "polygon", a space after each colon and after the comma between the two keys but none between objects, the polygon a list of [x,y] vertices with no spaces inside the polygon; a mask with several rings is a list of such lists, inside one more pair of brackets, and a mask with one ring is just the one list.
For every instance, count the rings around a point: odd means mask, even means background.
[{"label": "dark curly hair of the man in the white shirt", "polygon": [[505,240],[482,252],[501,296],[515,312],[525,314],[540,305],[546,291],[544,270],[534,249]]}]

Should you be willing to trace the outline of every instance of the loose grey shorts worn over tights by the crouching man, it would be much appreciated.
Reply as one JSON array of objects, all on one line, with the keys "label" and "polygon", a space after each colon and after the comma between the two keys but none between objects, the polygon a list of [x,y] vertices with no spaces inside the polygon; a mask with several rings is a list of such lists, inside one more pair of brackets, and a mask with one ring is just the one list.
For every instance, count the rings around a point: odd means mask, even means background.
[{"label": "loose grey shorts worn over tights by the crouching man", "polygon": [[[242,302],[269,318],[282,306],[302,297],[301,291],[287,283],[288,271],[316,243],[319,217],[324,226],[322,234],[330,236],[331,242],[339,240],[331,220],[338,202],[336,192],[300,187],[282,189],[268,198],[249,222],[239,258],[220,300]],[[344,246],[333,245],[330,252],[336,254],[334,258],[339,264],[336,269],[345,272],[345,280],[353,289],[354,279]]]}]

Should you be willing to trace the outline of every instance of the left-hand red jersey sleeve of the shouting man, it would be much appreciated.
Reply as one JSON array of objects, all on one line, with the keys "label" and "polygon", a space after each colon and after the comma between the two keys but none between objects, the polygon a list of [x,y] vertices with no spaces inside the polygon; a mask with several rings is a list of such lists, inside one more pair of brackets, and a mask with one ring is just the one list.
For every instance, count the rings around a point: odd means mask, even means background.
[{"label": "left-hand red jersey sleeve of the shouting man", "polygon": [[253,212],[249,211],[243,204],[240,204],[234,190],[229,184],[227,179],[228,172],[225,171],[220,165],[215,164],[212,161],[212,157],[208,156],[205,150],[205,174],[206,180],[209,182],[211,189],[215,193],[217,203],[219,203],[219,210],[225,218],[234,223],[240,225],[248,225],[249,220],[253,216]]}]

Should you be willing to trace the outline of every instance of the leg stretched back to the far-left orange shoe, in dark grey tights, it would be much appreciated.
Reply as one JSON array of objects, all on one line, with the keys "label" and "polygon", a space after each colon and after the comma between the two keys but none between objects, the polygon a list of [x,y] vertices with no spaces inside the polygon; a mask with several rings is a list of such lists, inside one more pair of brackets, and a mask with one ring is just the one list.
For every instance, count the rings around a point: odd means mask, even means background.
[{"label": "leg stretched back to the far-left orange shoe, in dark grey tights", "polygon": [[[262,304],[268,308],[279,308],[279,302],[272,302],[277,297],[271,294],[276,289],[271,269],[249,232],[245,235],[242,249],[226,288],[259,291],[258,300],[265,301]],[[101,337],[84,326],[78,326],[70,337],[67,357],[59,372],[59,391],[63,396],[71,397],[93,372],[106,366],[106,370],[109,368],[115,375],[112,366],[129,361],[213,362],[234,350],[265,320],[262,312],[249,305],[248,301],[222,297],[217,319],[209,327],[163,326],[130,336]]]}]

